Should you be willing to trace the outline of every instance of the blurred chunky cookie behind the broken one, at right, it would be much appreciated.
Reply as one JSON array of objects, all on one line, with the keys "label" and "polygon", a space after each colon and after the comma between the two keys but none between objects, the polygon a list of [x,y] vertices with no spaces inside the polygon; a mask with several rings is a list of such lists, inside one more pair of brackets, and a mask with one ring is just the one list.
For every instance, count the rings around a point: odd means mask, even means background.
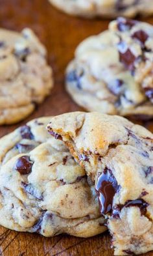
[{"label": "blurred chunky cookie behind the broken one, at right", "polygon": [[88,111],[152,119],[152,42],[152,25],[117,18],[78,46],[67,67],[67,91]]}]

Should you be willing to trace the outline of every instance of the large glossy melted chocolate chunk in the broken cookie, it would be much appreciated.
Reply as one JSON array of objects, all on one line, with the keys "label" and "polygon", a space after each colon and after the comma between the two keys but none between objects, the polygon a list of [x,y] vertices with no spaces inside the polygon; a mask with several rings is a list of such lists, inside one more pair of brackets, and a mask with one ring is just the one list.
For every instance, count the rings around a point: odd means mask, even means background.
[{"label": "large glossy melted chocolate chunk in the broken cookie", "polygon": [[101,214],[112,212],[113,197],[119,188],[120,186],[117,184],[112,171],[106,167],[103,173],[100,173],[95,186]]}]

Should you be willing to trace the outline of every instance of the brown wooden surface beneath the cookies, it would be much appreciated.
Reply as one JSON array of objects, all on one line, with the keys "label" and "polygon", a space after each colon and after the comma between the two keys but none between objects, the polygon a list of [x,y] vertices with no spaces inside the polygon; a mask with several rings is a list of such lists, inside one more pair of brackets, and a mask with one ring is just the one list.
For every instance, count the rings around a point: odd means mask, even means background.
[{"label": "brown wooden surface beneath the cookies", "polygon": [[[145,19],[153,24],[153,18]],[[32,28],[47,47],[49,64],[53,66],[54,89],[41,106],[30,117],[14,126],[1,126],[0,137],[21,124],[43,115],[80,109],[69,98],[64,89],[64,70],[72,59],[80,41],[89,35],[100,33],[108,26],[108,20],[84,20],[55,10],[47,0],[0,0],[0,25],[21,31]],[[143,123],[153,131],[152,122]],[[83,239],[68,235],[54,238],[29,233],[17,233],[0,227],[0,255],[3,256],[112,256],[110,236],[104,235]],[[153,255],[153,252],[146,256]]]}]

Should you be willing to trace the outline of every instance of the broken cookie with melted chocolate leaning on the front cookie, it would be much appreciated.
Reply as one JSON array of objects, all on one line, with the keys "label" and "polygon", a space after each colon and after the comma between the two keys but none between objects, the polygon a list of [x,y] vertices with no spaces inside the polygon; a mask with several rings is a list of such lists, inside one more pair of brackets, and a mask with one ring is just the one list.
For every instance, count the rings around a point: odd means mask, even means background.
[{"label": "broken cookie with melted chocolate leaning on the front cookie", "polygon": [[95,182],[115,255],[153,249],[153,134],[119,116],[73,112],[53,117],[62,139]]}]

